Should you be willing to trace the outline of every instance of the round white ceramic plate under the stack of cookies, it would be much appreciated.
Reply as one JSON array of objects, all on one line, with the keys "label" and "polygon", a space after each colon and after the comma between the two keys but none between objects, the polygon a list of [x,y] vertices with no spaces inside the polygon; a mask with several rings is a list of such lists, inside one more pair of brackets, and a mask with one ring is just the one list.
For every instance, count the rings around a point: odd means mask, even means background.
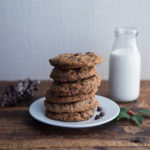
[{"label": "round white ceramic plate under the stack of cookies", "polygon": [[86,128],[102,125],[104,123],[110,122],[119,114],[120,108],[114,101],[98,95],[96,95],[96,98],[98,99],[100,107],[102,107],[103,112],[105,113],[105,115],[98,120],[94,119],[95,116],[99,114],[97,111],[95,111],[94,116],[87,121],[65,122],[50,119],[45,116],[44,97],[36,100],[30,105],[29,113],[34,119],[45,124],[68,128]]}]

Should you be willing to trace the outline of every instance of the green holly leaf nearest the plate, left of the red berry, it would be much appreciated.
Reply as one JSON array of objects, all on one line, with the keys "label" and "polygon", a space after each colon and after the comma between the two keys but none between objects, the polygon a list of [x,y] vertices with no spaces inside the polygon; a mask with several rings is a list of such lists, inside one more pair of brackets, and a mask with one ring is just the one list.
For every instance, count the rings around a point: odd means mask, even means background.
[{"label": "green holly leaf nearest the plate, left of the red berry", "polygon": [[120,108],[119,115],[115,118],[115,122],[118,122],[122,118],[130,119],[131,116],[127,113],[128,108]]}]

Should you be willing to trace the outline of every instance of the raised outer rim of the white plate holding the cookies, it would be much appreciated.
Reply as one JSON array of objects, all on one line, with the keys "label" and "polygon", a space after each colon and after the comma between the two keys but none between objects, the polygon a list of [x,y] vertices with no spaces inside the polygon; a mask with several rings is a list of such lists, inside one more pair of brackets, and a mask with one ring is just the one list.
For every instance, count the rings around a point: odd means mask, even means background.
[{"label": "raised outer rim of the white plate holding the cookies", "polygon": [[[95,96],[96,96],[96,97],[105,98],[105,99],[107,99],[108,101],[114,103],[114,105],[116,105],[116,107],[118,107],[118,109],[117,109],[118,111],[117,111],[116,115],[114,115],[114,116],[111,117],[110,119],[107,119],[107,120],[103,121],[102,123],[101,123],[101,122],[97,122],[97,123],[95,123],[95,124],[88,124],[88,125],[84,124],[84,125],[79,125],[79,126],[76,126],[76,125],[73,126],[73,125],[69,125],[69,124],[68,124],[68,125],[61,125],[61,124],[54,124],[54,123],[51,123],[51,122],[46,122],[46,121],[40,120],[39,118],[35,117],[35,116],[32,114],[32,112],[31,112],[32,106],[33,106],[35,103],[37,103],[38,101],[41,101],[41,100],[44,101],[45,97],[41,97],[41,98],[36,99],[36,100],[29,106],[29,114],[32,116],[32,118],[34,118],[35,120],[37,120],[37,121],[39,121],[39,122],[41,122],[41,123],[44,123],[44,124],[47,124],[47,125],[56,126],[56,127],[62,127],[62,128],[90,128],[90,127],[100,126],[100,125],[106,124],[106,123],[108,123],[108,122],[114,120],[114,119],[118,116],[118,114],[120,113],[120,107],[119,107],[119,105],[118,105],[115,101],[113,101],[113,100],[111,100],[111,99],[109,99],[109,98],[107,98],[107,97],[104,97],[104,96],[101,96],[101,95],[95,95]],[[48,117],[47,117],[47,118],[48,118]],[[48,118],[48,119],[50,119],[50,118]],[[51,120],[53,120],[53,119],[51,119]],[[57,121],[57,120],[54,120],[54,121]],[[95,121],[96,121],[96,120],[95,120]],[[64,122],[64,121],[59,121],[59,122]],[[67,122],[66,122],[66,123],[67,123]],[[78,122],[77,122],[77,123],[78,123]]]}]

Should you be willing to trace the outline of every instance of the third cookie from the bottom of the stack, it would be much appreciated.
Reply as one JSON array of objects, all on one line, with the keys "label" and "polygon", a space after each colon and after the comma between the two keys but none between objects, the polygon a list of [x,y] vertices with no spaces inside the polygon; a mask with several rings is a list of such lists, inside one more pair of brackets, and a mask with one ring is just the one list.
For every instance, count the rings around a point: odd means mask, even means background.
[{"label": "third cookie from the bottom of the stack", "polygon": [[77,102],[82,101],[85,99],[88,99],[95,95],[97,92],[97,89],[92,89],[91,92],[87,94],[82,95],[74,95],[74,96],[55,96],[51,93],[50,90],[48,90],[45,94],[45,98],[50,103],[71,103],[71,102]]}]

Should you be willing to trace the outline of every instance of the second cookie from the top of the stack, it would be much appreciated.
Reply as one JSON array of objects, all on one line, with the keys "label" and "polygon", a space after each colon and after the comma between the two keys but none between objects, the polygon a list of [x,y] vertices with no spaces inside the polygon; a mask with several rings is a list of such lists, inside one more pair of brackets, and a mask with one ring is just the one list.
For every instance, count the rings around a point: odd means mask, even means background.
[{"label": "second cookie from the top of the stack", "polygon": [[97,74],[95,66],[82,67],[77,69],[59,69],[54,68],[50,74],[50,77],[58,82],[73,82],[81,79],[85,79]]}]

